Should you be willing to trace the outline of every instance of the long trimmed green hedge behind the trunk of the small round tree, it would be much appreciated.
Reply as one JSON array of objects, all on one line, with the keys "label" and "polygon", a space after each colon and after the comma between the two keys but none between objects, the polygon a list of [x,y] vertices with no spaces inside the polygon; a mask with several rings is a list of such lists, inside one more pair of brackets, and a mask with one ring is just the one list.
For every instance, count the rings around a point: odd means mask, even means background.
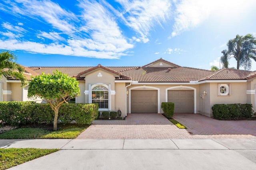
[{"label": "long trimmed green hedge behind the trunk of the small round tree", "polygon": [[[98,104],[64,103],[59,109],[58,123],[91,124],[98,117]],[[52,124],[54,112],[47,104],[31,101],[0,102],[0,120],[18,126],[20,124]]]}]

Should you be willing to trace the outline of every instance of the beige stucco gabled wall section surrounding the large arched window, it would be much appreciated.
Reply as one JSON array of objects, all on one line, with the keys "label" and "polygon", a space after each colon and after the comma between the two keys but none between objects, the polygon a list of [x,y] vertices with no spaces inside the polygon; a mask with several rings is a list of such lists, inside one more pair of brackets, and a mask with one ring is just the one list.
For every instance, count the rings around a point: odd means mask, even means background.
[{"label": "beige stucco gabled wall section surrounding the large arched window", "polygon": [[[102,77],[98,77],[98,73],[102,74]],[[81,75],[83,76],[83,75]],[[118,77],[118,75],[115,75],[113,73],[110,73],[104,69],[96,69],[88,74],[85,75],[85,90],[89,90],[89,84],[96,84],[96,83],[106,83],[110,84],[110,90],[115,91],[115,77]],[[111,96],[111,109],[110,111],[115,111],[115,95],[110,95]],[[89,103],[89,96],[84,95],[85,97],[85,103]]]}]

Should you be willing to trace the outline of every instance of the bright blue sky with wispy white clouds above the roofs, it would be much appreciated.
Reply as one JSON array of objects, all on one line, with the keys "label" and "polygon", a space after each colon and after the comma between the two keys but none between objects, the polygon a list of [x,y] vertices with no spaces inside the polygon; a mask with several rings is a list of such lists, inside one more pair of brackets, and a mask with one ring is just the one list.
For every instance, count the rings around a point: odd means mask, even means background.
[{"label": "bright blue sky with wispy white clouds above the roofs", "polygon": [[210,69],[228,40],[256,36],[255,9],[255,0],[0,0],[0,49],[26,66],[142,66],[162,57]]}]

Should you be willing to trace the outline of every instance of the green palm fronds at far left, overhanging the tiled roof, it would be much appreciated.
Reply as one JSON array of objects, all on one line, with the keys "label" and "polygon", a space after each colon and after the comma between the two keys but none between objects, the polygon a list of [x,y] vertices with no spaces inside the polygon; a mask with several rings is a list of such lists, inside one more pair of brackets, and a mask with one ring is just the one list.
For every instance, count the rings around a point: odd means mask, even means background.
[{"label": "green palm fronds at far left, overhanging the tiled roof", "polygon": [[18,79],[21,81],[21,86],[27,84],[24,76],[24,68],[15,63],[16,57],[10,51],[2,51],[0,53],[0,78],[2,76],[11,79]]}]

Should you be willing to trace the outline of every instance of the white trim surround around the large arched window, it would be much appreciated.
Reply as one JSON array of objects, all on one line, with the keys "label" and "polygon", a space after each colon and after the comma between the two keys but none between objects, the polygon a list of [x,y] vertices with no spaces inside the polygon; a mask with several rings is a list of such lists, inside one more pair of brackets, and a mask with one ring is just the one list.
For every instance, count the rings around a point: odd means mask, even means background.
[{"label": "white trim surround around the large arched window", "polygon": [[92,103],[92,89],[96,86],[102,85],[108,89],[108,108],[100,109],[98,111],[110,111],[111,110],[111,89],[110,83],[89,83],[89,96],[88,101]]}]

